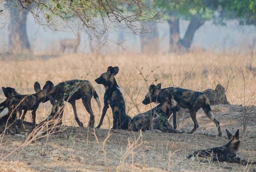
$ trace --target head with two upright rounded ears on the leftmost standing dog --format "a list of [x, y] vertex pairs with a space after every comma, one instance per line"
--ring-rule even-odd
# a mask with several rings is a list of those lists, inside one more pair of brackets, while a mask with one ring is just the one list
[[50, 92], [52, 92], [52, 88], [54, 87], [53, 83], [50, 81], [47, 81], [44, 85], [43, 89], [41, 90], [41, 86], [39, 82], [34, 83], [34, 90], [38, 96], [38, 100], [40, 102], [46, 102], [49, 100], [48, 96]]

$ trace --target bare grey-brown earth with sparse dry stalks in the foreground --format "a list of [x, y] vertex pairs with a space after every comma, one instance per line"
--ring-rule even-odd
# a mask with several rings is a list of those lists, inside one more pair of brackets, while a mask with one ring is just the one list
[[[228, 142], [225, 128], [234, 133], [240, 129], [238, 156], [256, 160], [256, 107], [234, 105], [212, 106], [220, 121], [222, 137], [203, 110], [198, 111], [199, 128], [194, 134], [163, 133], [158, 130], [130, 132], [80, 127], [65, 127], [57, 135], [22, 147], [1, 162], [0, 171], [254, 171], [256, 165], [246, 167], [227, 162], [203, 163], [187, 156], [203, 148], [222, 146]], [[247, 128], [243, 129], [243, 118]], [[190, 115], [178, 116], [178, 127], [191, 130]], [[5, 135], [0, 146], [1, 160], [20, 146], [26, 138]]]

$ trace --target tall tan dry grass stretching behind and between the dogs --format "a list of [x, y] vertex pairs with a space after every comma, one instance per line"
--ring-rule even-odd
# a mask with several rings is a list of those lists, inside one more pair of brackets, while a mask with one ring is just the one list
[[[42, 56], [45, 57], [45, 56]], [[129, 116], [146, 111], [150, 106], [141, 103], [146, 94], [146, 82], [162, 83], [162, 87], [177, 86], [202, 91], [222, 84], [230, 104], [255, 105], [256, 63], [251, 55], [216, 54], [212, 52], [190, 52], [186, 54], [63, 54], [53, 58], [30, 58], [30, 60], [0, 60], [0, 86], [11, 86], [21, 94], [34, 93], [34, 82], [41, 86], [51, 80], [58, 84], [64, 80], [85, 79], [92, 82], [103, 104], [104, 87], [94, 80], [107, 70], [118, 66], [118, 85], [126, 100]], [[250, 66], [250, 68], [248, 68]], [[0, 100], [4, 100], [1, 93]], [[96, 102], [92, 100], [96, 124], [100, 120]], [[50, 103], [40, 104], [37, 122], [50, 114]], [[77, 103], [78, 117], [87, 124], [90, 115], [82, 102]], [[28, 119], [29, 116], [26, 116]], [[74, 120], [72, 106], [64, 109], [64, 124], [78, 126]], [[112, 112], [108, 110], [103, 128], [112, 127]]]

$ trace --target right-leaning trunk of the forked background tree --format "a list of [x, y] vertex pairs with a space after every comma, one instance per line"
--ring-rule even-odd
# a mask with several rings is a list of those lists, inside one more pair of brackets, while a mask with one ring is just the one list
[[180, 41], [180, 44], [181, 44], [184, 48], [186, 48], [186, 49], [189, 49], [189, 48], [190, 48], [196, 30], [198, 30], [198, 28], [200, 28], [200, 27], [204, 24], [204, 22], [205, 22], [205, 21], [199, 20], [199, 19], [196, 18], [196, 17], [192, 17], [192, 18], [191, 18], [190, 23], [189, 23], [189, 25], [188, 25], [188, 28], [187, 28], [187, 30], [186, 30], [185, 36], [184, 36], [184, 38]]

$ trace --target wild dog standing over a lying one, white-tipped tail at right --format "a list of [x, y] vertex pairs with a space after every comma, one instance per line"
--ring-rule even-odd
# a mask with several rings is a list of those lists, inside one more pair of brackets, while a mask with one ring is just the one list
[[[214, 118], [214, 114], [211, 110], [208, 98], [202, 93], [193, 90], [186, 90], [183, 88], [163, 88], [161, 89], [161, 84], [157, 86], [151, 85], [149, 87], [149, 92], [146, 94], [145, 99], [142, 101], [143, 104], [149, 104], [150, 102], [159, 102], [158, 94], [160, 92], [164, 93], [166, 96], [173, 94], [174, 99], [181, 108], [188, 108], [190, 116], [194, 122], [194, 128], [189, 132], [192, 134], [199, 127], [196, 120], [196, 112], [202, 108], [204, 113], [208, 118], [210, 118], [218, 127], [218, 136], [222, 136], [220, 130], [220, 123]], [[173, 126], [176, 129], [176, 112], [173, 113]]]

